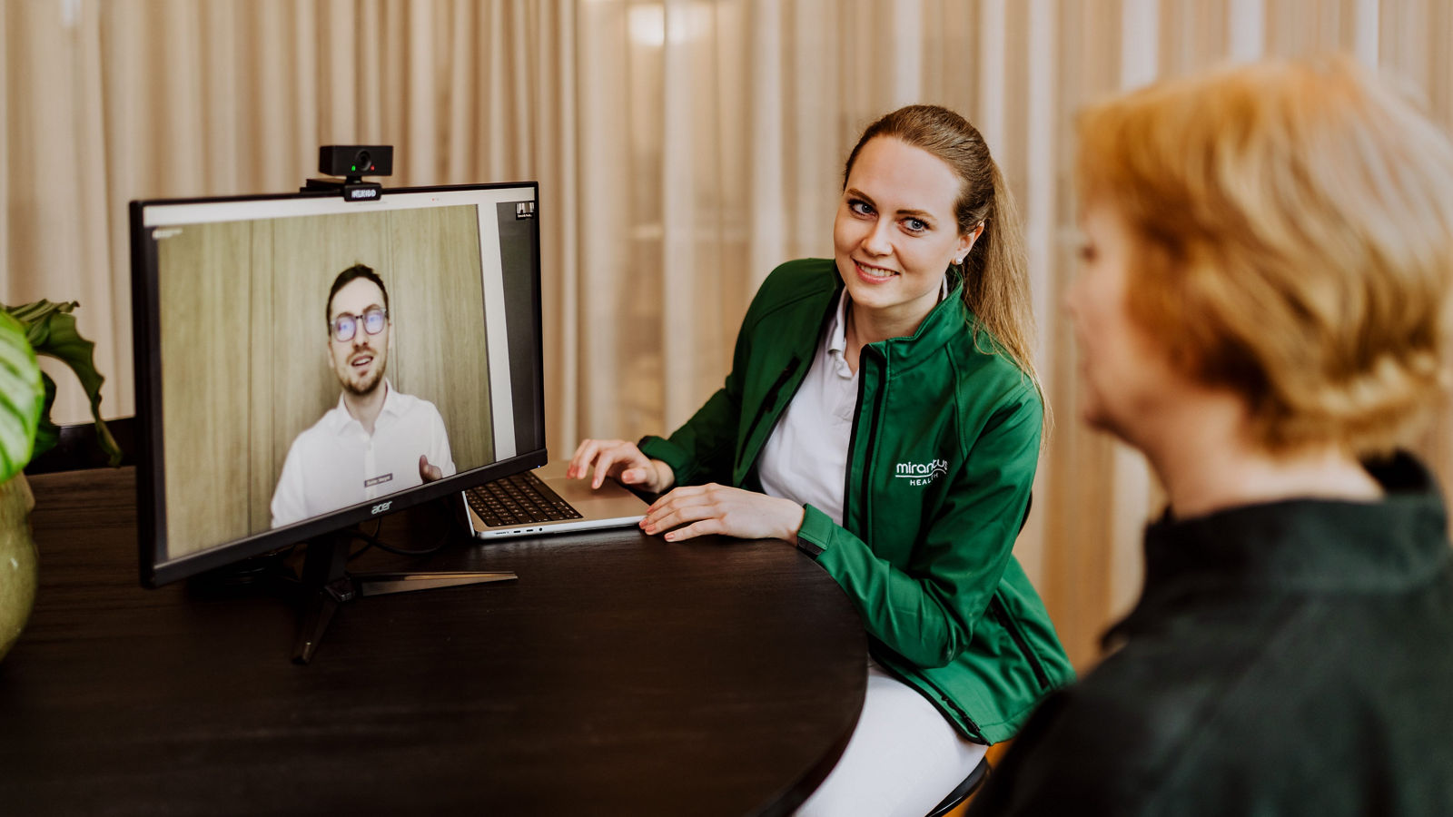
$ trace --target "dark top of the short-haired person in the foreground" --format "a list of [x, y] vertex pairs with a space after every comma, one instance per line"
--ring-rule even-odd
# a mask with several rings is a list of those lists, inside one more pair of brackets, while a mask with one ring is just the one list
[[1161, 520], [1082, 682], [1045, 701], [971, 814], [1453, 814], [1453, 570], [1412, 458], [1376, 503]]

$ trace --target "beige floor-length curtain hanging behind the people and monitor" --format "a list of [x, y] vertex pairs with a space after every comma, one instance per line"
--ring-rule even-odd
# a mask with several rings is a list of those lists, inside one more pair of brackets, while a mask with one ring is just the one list
[[[776, 263], [831, 251], [876, 115], [955, 108], [1027, 215], [1056, 426], [1017, 554], [1081, 667], [1133, 602], [1159, 497], [1077, 420], [1074, 112], [1225, 60], [1347, 51], [1453, 125], [1443, 0], [3, 0], [0, 297], [80, 299], [108, 416], [134, 411], [131, 199], [278, 192], [318, 144], [389, 185], [542, 185], [548, 436], [674, 427]], [[84, 404], [65, 375], [57, 416]], [[1443, 413], [1421, 443], [1453, 478]]]

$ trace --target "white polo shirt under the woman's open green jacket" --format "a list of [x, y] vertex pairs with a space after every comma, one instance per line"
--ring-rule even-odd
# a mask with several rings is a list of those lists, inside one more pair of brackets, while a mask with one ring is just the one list
[[[949, 295], [944, 276], [939, 301]], [[757, 478], [767, 496], [811, 504], [843, 523], [847, 446], [857, 413], [857, 372], [847, 366], [847, 289], [818, 342], [812, 368], [777, 419], [757, 459]]]

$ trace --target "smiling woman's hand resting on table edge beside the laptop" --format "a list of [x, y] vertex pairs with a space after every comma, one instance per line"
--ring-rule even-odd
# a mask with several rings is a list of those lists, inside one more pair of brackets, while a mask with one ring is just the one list
[[[706, 534], [741, 539], [786, 539], [798, 542], [802, 506], [789, 500], [728, 488], [726, 486], [687, 486], [655, 500], [645, 512], [641, 528], [647, 534], [674, 531], [667, 541], [679, 542]], [[681, 528], [677, 528], [681, 525]]]

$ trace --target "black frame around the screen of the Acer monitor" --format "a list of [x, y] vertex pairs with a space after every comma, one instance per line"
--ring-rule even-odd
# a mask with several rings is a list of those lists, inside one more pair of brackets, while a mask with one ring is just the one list
[[[386, 188], [384, 198], [402, 193], [432, 193], [455, 190], [491, 190], [509, 188], [529, 188], [535, 196], [535, 259], [530, 270], [533, 310], [533, 342], [542, 353], [536, 361], [543, 361], [543, 317], [539, 308], [542, 301], [541, 289], [541, 212], [539, 212], [539, 182], [491, 182], [478, 185], [434, 185], [418, 188]], [[500, 459], [490, 465], [462, 471], [445, 477], [436, 483], [414, 486], [402, 491], [386, 494], [359, 504], [343, 507], [323, 516], [288, 525], [285, 528], [251, 534], [238, 539], [209, 547], [195, 554], [177, 558], [167, 558], [166, 531], [166, 474], [163, 472], [161, 429], [161, 337], [157, 318], [160, 301], [160, 278], [157, 269], [155, 241], [151, 240], [145, 227], [145, 209], [164, 205], [195, 205], [195, 204], [230, 204], [253, 201], [296, 201], [296, 199], [328, 199], [339, 198], [336, 192], [296, 192], [296, 193], [257, 193], [240, 196], [205, 196], [186, 199], [144, 199], [132, 201], [129, 205], [129, 237], [131, 237], [131, 282], [132, 282], [132, 356], [135, 363], [135, 395], [137, 395], [137, 545], [141, 584], [158, 587], [196, 576], [209, 570], [225, 567], [244, 558], [256, 557], [278, 548], [304, 542], [343, 528], [357, 525], [368, 519], [395, 513], [408, 507], [437, 500], [452, 493], [471, 488], [474, 486], [517, 474], [530, 468], [539, 468], [548, 459], [545, 445], [545, 372], [543, 363], [535, 378], [535, 423], [539, 429], [539, 448], [517, 452], [514, 456]], [[356, 202], [366, 208], [372, 201]], [[462, 502], [462, 500], [461, 500]], [[382, 506], [382, 507], [381, 507]]]

